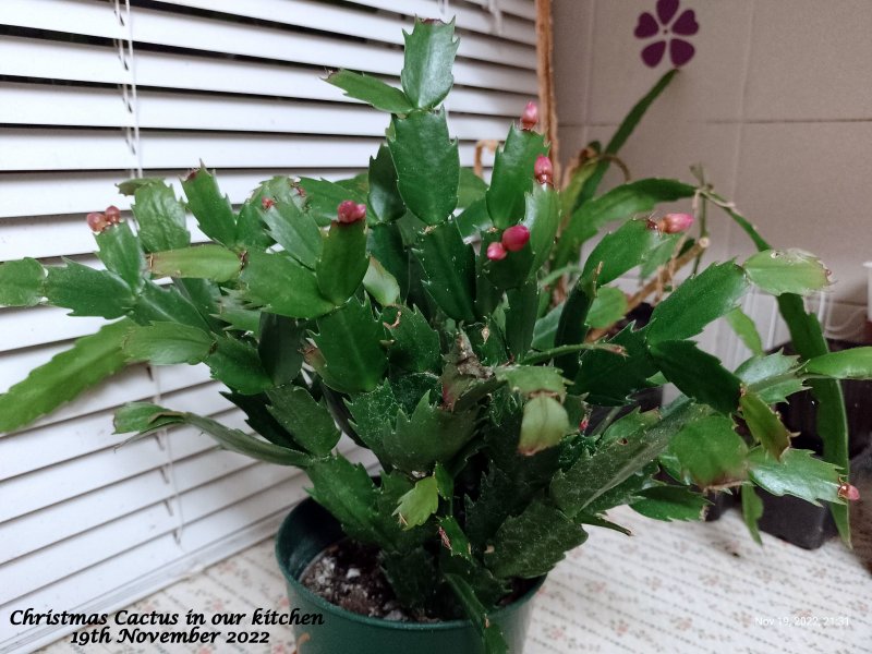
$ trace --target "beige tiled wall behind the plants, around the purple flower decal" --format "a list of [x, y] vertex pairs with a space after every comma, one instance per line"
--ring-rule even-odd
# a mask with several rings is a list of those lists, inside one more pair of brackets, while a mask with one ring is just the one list
[[[655, 0], [554, 0], [561, 156], [607, 140], [668, 70], [633, 29]], [[865, 303], [872, 259], [872, 0], [681, 0], [695, 56], [625, 147], [634, 178], [701, 162], [776, 244], [819, 254], [833, 298]], [[608, 182], [619, 178], [614, 173]], [[711, 256], [750, 252], [722, 218]]]

